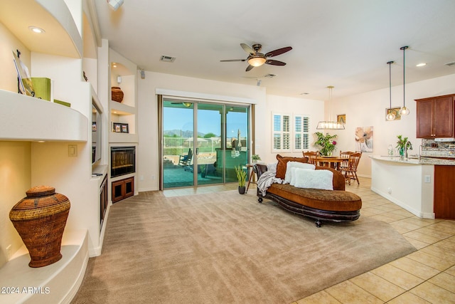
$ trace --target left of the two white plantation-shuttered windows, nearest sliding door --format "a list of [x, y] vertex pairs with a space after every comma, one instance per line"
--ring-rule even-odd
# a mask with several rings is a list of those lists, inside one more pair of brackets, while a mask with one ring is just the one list
[[291, 115], [272, 113], [272, 152], [291, 151]]

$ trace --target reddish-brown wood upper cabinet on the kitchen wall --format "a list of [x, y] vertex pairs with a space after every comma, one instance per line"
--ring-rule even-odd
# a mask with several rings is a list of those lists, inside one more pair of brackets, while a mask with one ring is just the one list
[[415, 101], [417, 138], [455, 137], [455, 94]]

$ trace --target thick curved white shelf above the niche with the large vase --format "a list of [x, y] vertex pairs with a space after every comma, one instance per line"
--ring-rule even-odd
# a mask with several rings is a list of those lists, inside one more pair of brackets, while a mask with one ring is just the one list
[[0, 121], [0, 140], [87, 142], [82, 113], [27, 95], [0, 90]]

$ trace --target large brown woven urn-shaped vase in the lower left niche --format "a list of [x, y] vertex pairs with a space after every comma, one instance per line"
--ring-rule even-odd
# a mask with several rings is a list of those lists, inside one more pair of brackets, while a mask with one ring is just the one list
[[33, 187], [9, 212], [9, 219], [30, 253], [28, 266], [48, 266], [62, 258], [60, 247], [70, 201], [48, 186]]

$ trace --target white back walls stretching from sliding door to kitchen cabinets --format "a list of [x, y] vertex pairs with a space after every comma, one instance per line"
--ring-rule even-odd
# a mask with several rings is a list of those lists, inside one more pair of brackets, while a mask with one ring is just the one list
[[[352, 95], [346, 98], [336, 98], [336, 90], [333, 90], [331, 113], [328, 112], [327, 101], [325, 102], [326, 111], [324, 113], [323, 101], [267, 95], [265, 88], [257, 87], [256, 85], [238, 85], [235, 83], [146, 72], [145, 79], [138, 77], [139, 192], [159, 189], [156, 88], [255, 100], [255, 152], [261, 156], [263, 162], [267, 163], [274, 162], [277, 155], [271, 152], [272, 112], [309, 115], [312, 133], [317, 131], [316, 125], [320, 120], [328, 119], [329, 115], [336, 119], [336, 115], [346, 114], [346, 130], [330, 131], [328, 133], [337, 135], [336, 153], [338, 154], [339, 151], [355, 150], [355, 127], [373, 126], [373, 152], [364, 152], [358, 167], [360, 176], [370, 177], [371, 161], [368, 155], [387, 154], [388, 145], [395, 147], [397, 135], [409, 137], [414, 146], [414, 150], [410, 151], [410, 154], [419, 152], [421, 140], [415, 137], [416, 105], [414, 100], [455, 93], [453, 83], [455, 83], [455, 74], [406, 84], [406, 106], [410, 108], [410, 115], [402, 117], [401, 120], [387, 122], [385, 120], [385, 111], [389, 107], [389, 88]], [[402, 85], [392, 87], [392, 107], [402, 106], [402, 96]], [[314, 147], [314, 141], [315, 139], [313, 138], [309, 150], [318, 150], [318, 147]], [[301, 152], [282, 154], [300, 156]]]

